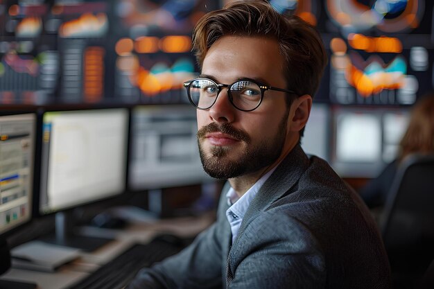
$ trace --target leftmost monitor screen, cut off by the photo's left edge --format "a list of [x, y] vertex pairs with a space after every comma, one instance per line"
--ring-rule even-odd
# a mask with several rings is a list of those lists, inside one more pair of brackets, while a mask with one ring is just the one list
[[0, 116], [0, 235], [31, 219], [35, 114]]

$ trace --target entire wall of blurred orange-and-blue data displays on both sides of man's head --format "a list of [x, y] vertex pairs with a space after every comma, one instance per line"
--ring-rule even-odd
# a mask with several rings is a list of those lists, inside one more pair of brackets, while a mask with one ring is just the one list
[[[185, 103], [191, 33], [230, 0], [0, 1], [0, 103]], [[412, 105], [433, 89], [433, 1], [270, 0], [318, 28], [316, 99]]]

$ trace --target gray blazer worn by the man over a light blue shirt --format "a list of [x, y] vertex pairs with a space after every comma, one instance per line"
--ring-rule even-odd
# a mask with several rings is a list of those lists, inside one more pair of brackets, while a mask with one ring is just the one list
[[232, 246], [228, 189], [214, 225], [128, 288], [391, 288], [370, 211], [322, 159], [296, 146], [252, 200]]

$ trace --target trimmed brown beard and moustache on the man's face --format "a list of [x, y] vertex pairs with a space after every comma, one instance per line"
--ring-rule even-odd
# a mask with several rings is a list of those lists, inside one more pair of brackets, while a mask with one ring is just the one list
[[[200, 128], [198, 146], [203, 169], [208, 175], [216, 179], [231, 179], [270, 166], [279, 158], [284, 148], [288, 115], [289, 108], [286, 110], [284, 118], [281, 119], [275, 136], [270, 139], [263, 139], [256, 144], [252, 144], [247, 132], [238, 130], [229, 123], [209, 123]], [[201, 142], [209, 132], [228, 134], [230, 137], [245, 143], [245, 149], [236, 159], [229, 157], [231, 148], [225, 146], [211, 146], [207, 154]]]

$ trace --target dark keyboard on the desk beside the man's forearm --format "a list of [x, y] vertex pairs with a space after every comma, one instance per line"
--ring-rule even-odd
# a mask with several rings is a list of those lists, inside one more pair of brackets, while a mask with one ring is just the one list
[[124, 288], [141, 268], [180, 252], [182, 246], [160, 240], [148, 244], [133, 244], [123, 253], [102, 265], [85, 279], [68, 289], [121, 289]]

